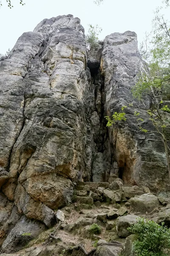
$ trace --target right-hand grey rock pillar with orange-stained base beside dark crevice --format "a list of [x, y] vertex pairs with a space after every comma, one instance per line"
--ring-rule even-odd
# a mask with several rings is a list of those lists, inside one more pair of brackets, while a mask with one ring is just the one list
[[[135, 32], [113, 33], [105, 38], [100, 69], [105, 77], [105, 115], [111, 116], [115, 111], [120, 112], [122, 106], [133, 102], [133, 110], [125, 110], [126, 122], [108, 130], [124, 183], [135, 183], [152, 190], [168, 187], [166, 157], [161, 137], [156, 133], [141, 134], [133, 116], [138, 107], [143, 107], [133, 99], [131, 88], [136, 84], [138, 74], [147, 72], [146, 63], [142, 61], [137, 48]], [[149, 108], [151, 99], [146, 97], [144, 104]], [[145, 128], [154, 131], [146, 111], [141, 112]]]

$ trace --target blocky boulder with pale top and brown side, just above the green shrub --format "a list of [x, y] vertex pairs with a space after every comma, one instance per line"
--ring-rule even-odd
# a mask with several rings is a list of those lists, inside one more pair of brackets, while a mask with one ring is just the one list
[[137, 218], [139, 217], [136, 215], [126, 215], [126, 216], [117, 218], [116, 230], [117, 230], [118, 236], [121, 236], [121, 237], [130, 236], [130, 232], [127, 230], [127, 228], [135, 224], [137, 222]]

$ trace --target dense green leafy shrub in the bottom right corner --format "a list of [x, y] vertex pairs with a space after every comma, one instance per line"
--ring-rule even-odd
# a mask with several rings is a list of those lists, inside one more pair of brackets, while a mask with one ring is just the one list
[[170, 255], [170, 229], [144, 218], [128, 230], [138, 235], [134, 242], [136, 256], [169, 256]]

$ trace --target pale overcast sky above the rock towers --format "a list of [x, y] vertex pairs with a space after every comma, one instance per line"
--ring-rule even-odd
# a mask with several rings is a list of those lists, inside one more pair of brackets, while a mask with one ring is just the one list
[[[88, 24], [102, 27], [100, 39], [113, 32], [135, 31], [138, 41], [142, 41], [145, 31], [150, 31], [153, 10], [161, 5], [161, 0], [105, 0], [96, 6], [93, 0], [11, 0], [14, 8], [9, 9], [2, 0], [0, 9], [0, 53], [12, 49], [23, 32], [33, 31], [45, 18], [72, 14], [79, 17], [88, 30]], [[170, 10], [169, 10], [170, 11]]]

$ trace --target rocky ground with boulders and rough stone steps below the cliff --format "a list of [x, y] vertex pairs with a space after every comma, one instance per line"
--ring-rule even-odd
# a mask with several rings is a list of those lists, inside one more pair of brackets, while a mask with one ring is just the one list
[[[78, 182], [74, 190], [75, 202], [56, 211], [57, 224], [54, 227], [28, 241], [25, 249], [1, 255], [117, 256], [121, 252], [123, 256], [132, 256], [134, 236], [127, 227], [135, 224], [137, 218], [144, 217], [158, 223], [164, 221], [170, 227], [169, 199], [144, 189], [147, 193], [138, 186], [124, 185], [119, 178], [111, 184]], [[92, 224], [101, 228], [99, 234], [91, 233]], [[24, 232], [15, 243], [30, 236], [31, 233]], [[14, 246], [13, 242], [11, 246]], [[3, 248], [10, 250], [9, 247]]]

